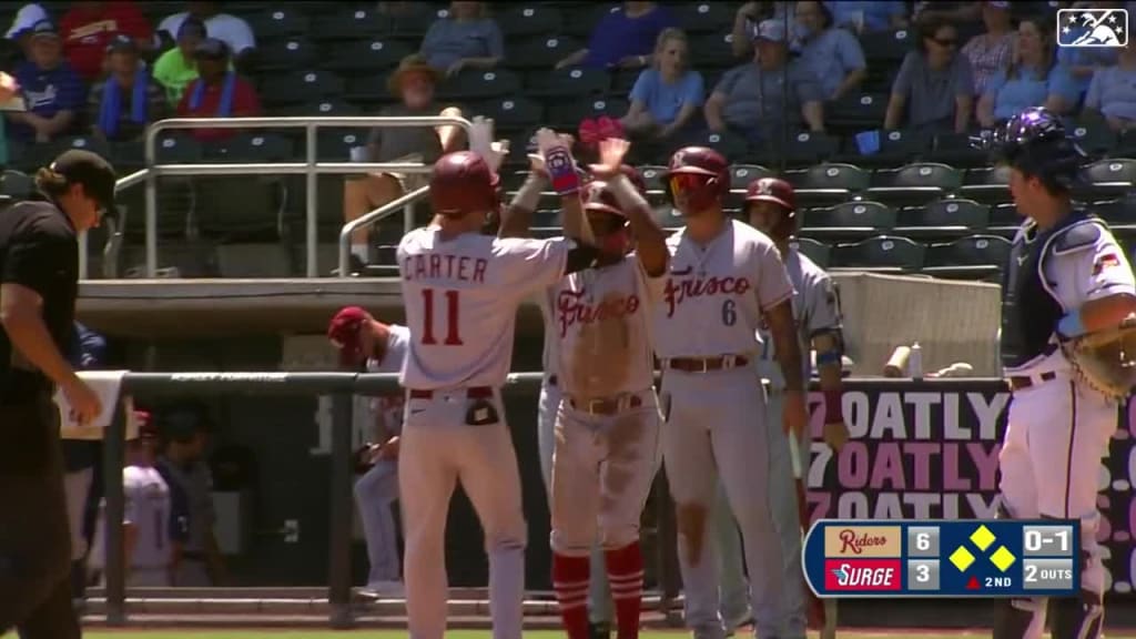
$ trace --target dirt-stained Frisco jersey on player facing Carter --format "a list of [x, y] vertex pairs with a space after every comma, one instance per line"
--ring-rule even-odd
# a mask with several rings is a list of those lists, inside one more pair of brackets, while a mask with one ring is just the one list
[[638, 257], [573, 273], [548, 291], [545, 335], [565, 395], [599, 398], [637, 392], [654, 383], [650, 307], [665, 277], [649, 277]]

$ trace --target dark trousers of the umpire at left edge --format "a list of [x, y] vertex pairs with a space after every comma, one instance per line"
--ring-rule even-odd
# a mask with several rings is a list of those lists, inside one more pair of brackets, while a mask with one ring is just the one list
[[0, 406], [0, 634], [78, 638], [59, 410], [42, 395]]

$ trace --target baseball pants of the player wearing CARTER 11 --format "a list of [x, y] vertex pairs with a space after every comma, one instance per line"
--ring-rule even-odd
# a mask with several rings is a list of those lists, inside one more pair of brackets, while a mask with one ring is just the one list
[[408, 397], [399, 451], [399, 495], [406, 530], [404, 581], [411, 639], [445, 634], [449, 583], [445, 522], [458, 482], [485, 533], [494, 639], [520, 639], [527, 524], [520, 472], [500, 393], [498, 421], [467, 424], [467, 391]]

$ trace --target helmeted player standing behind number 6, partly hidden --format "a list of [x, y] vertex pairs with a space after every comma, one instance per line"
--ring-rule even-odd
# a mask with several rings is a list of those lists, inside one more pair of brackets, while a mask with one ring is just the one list
[[[790, 246], [797, 226], [796, 202], [793, 186], [784, 180], [762, 177], [749, 184], [745, 191], [745, 213], [757, 230], [769, 235], [777, 246], [788, 279], [793, 282], [793, 317], [799, 327], [801, 352], [810, 346], [817, 351], [817, 370], [820, 388], [825, 396], [825, 441], [835, 453], [840, 453], [847, 441], [847, 425], [842, 414], [843, 380], [841, 358], [843, 337], [841, 330], [840, 299], [836, 285], [822, 268], [808, 256]], [[758, 360], [758, 373], [768, 392], [767, 420], [776, 422], [780, 415], [785, 377], [776, 365], [772, 340], [762, 335], [763, 348]], [[804, 366], [799, 372], [802, 384], [811, 377], [811, 366], [803, 358]], [[808, 616], [812, 625], [822, 629], [822, 638], [836, 636], [835, 609], [825, 614], [825, 605], [804, 584], [801, 566], [802, 526], [809, 525], [809, 509], [805, 501], [804, 476], [810, 462], [809, 432], [801, 431], [796, 438], [786, 438], [780, 429], [767, 429], [770, 450], [778, 451], [770, 458], [769, 489], [774, 521], [780, 533], [785, 550], [785, 605], [784, 617], [787, 628], [782, 637], [804, 637], [807, 621], [805, 600], [809, 601]], [[829, 600], [835, 604], [834, 600]], [[826, 601], [825, 604], [828, 604]]]

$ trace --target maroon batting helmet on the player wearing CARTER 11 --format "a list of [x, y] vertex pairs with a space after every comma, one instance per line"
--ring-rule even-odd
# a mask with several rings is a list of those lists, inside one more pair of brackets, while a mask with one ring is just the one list
[[429, 175], [431, 206], [446, 217], [495, 211], [499, 183], [500, 177], [482, 156], [473, 151], [446, 153], [434, 163]]

